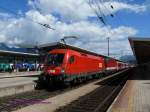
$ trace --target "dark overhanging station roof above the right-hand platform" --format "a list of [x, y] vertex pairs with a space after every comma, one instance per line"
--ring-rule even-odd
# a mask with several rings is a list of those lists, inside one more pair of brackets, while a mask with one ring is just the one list
[[132, 51], [139, 64], [150, 62], [150, 38], [129, 38]]

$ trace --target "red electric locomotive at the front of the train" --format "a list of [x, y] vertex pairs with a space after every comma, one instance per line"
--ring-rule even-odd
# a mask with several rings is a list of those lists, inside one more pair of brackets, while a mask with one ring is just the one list
[[54, 49], [45, 59], [45, 82], [76, 82], [96, 77], [105, 71], [104, 58], [71, 49]]

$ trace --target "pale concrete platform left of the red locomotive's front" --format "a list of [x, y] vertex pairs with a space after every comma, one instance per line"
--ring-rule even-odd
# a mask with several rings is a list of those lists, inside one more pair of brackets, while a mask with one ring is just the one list
[[37, 72], [0, 74], [0, 97], [34, 90], [34, 81], [38, 79], [38, 74]]

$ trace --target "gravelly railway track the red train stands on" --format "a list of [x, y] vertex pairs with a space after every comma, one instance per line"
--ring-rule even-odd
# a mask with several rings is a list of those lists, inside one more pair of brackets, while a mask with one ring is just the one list
[[62, 86], [51, 89], [44, 88], [42, 90], [34, 90], [12, 96], [0, 97], [0, 112], [11, 112], [34, 103], [41, 102], [42, 100], [56, 96], [58, 94], [77, 89], [96, 80], [98, 79], [89, 80], [86, 83], [77, 84], [73, 87]]

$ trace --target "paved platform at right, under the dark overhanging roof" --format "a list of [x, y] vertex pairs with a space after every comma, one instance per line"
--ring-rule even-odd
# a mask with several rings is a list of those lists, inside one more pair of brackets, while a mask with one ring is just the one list
[[140, 66], [132, 71], [124, 88], [107, 112], [150, 111], [150, 67]]

